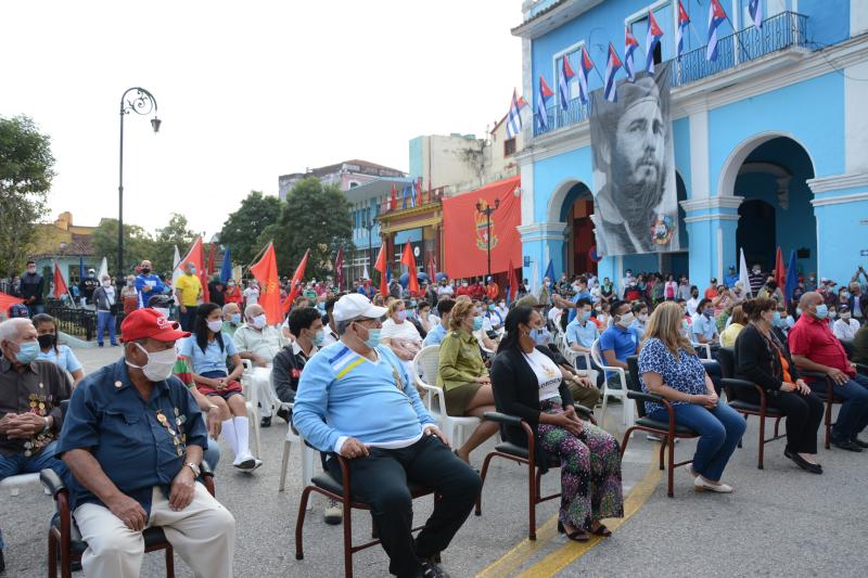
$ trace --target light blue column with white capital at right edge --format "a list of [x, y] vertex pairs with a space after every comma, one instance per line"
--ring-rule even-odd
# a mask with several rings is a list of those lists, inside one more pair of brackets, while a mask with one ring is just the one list
[[817, 218], [817, 275], [850, 281], [868, 264], [868, 172], [807, 181]]

